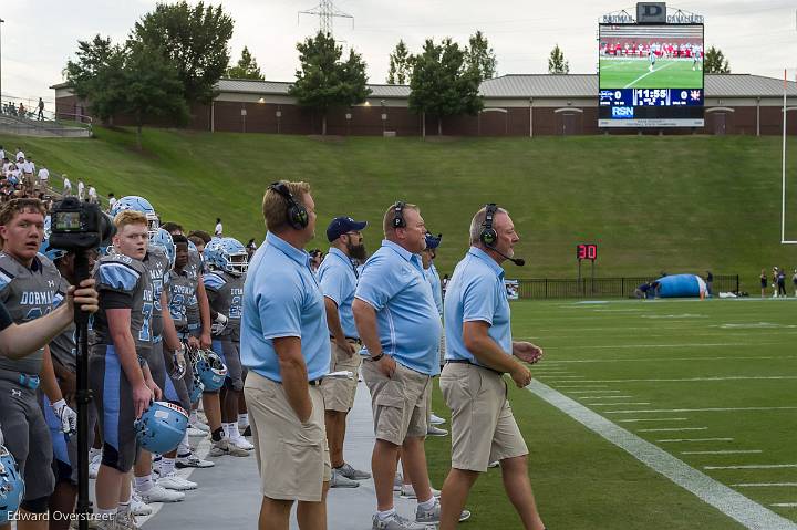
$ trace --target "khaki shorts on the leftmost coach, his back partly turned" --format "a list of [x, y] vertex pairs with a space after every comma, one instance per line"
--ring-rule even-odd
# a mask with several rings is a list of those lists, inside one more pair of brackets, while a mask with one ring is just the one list
[[255, 455], [260, 471], [260, 492], [277, 500], [320, 502], [330, 467], [323, 396], [310, 386], [313, 411], [308, 423], [299, 422], [280, 383], [249, 372], [244, 386]]

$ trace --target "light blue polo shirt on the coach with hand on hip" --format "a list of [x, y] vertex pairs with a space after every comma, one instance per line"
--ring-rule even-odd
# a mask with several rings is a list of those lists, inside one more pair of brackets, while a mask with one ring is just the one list
[[383, 240], [365, 262], [354, 295], [376, 310], [386, 355], [416, 372], [439, 373], [439, 314], [420, 256]]

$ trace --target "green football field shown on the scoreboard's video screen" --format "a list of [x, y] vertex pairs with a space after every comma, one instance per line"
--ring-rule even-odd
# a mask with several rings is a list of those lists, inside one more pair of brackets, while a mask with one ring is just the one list
[[[700, 63], [701, 67], [703, 63]], [[701, 89], [703, 71], [692, 70], [692, 61], [659, 59], [649, 70], [644, 59], [601, 59], [601, 89]]]

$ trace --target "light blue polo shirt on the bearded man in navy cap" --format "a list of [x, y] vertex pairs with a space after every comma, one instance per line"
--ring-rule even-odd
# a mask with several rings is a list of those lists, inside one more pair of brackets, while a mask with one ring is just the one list
[[[354, 325], [354, 313], [351, 310], [356, 289], [356, 272], [351, 259], [340, 249], [331, 247], [315, 274], [323, 295], [338, 304], [343, 334], [359, 339], [360, 335]], [[331, 334], [332, 330], [329, 332]]]

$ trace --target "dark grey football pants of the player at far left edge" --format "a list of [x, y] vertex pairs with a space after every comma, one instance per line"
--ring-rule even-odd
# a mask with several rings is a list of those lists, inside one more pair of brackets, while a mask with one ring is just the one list
[[0, 426], [25, 482], [24, 500], [49, 497], [55, 488], [52, 440], [37, 391], [0, 378]]

